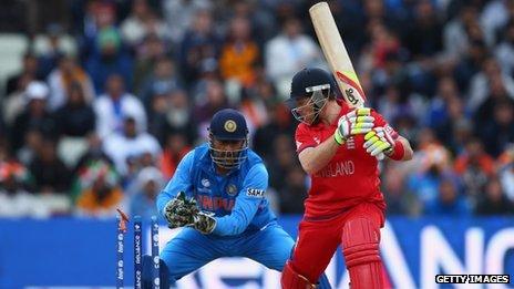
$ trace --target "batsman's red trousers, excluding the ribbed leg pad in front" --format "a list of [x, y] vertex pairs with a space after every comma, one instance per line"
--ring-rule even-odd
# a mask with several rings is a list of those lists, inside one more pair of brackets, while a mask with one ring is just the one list
[[[369, 220], [370, 227], [374, 228], [372, 231], [364, 234], [371, 234], [377, 241], [380, 241], [380, 228], [383, 227], [384, 214], [380, 207], [372, 203], [359, 204], [328, 219], [304, 218], [299, 225], [298, 239], [290, 261], [291, 267], [311, 283], [316, 283], [316, 280], [318, 280], [330, 262], [338, 246], [342, 244], [345, 251], [348, 238], [360, 238], [359, 236], [362, 233], [359, 230], [366, 230], [362, 228], [349, 228], [351, 226], [345, 225], [351, 220], [362, 218]], [[346, 231], [343, 231], [343, 228]], [[345, 241], [343, 234], [347, 236]], [[346, 259], [348, 259], [347, 257]], [[381, 266], [381, 262], [379, 266]], [[350, 281], [354, 282], [353, 280]]]

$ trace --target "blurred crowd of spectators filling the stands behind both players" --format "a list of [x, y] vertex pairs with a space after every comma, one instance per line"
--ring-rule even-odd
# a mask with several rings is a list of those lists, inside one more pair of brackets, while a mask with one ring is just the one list
[[[284, 100], [295, 72], [326, 68], [315, 2], [68, 1], [70, 20], [39, 45], [28, 37], [3, 84], [0, 216], [154, 215], [222, 107], [246, 115], [276, 210], [302, 213], [309, 179]], [[380, 165], [388, 214], [513, 214], [514, 1], [330, 7], [369, 105], [415, 152]]]

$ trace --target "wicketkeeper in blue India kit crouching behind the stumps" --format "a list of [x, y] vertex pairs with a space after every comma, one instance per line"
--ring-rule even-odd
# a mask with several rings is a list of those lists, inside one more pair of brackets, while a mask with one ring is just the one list
[[[248, 148], [245, 117], [222, 110], [208, 130], [209, 142], [184, 156], [157, 197], [169, 227], [184, 227], [161, 252], [163, 287], [220, 257], [247, 257], [281, 271], [292, 251], [294, 239], [266, 199], [268, 172]], [[325, 275], [320, 287], [330, 288]]]

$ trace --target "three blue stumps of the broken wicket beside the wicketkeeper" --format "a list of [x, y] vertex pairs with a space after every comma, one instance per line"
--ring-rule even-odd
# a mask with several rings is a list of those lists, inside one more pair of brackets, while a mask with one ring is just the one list
[[[124, 247], [125, 247], [125, 234], [126, 223], [128, 217], [120, 209], [116, 209], [120, 214], [117, 218], [117, 242], [116, 242], [116, 289], [124, 288]], [[134, 288], [143, 288], [143, 223], [141, 216], [134, 216]], [[160, 257], [158, 257], [158, 223], [157, 217], [152, 216], [151, 219], [151, 238], [152, 238], [152, 288], [160, 289], [161, 280], [158, 276], [160, 270]]]

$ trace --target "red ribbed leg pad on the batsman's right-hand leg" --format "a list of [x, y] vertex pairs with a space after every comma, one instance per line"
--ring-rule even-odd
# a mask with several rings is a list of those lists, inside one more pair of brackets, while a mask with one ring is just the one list
[[380, 229], [371, 220], [356, 218], [345, 225], [342, 252], [352, 289], [383, 287], [379, 242]]

